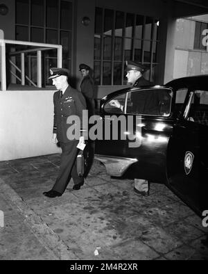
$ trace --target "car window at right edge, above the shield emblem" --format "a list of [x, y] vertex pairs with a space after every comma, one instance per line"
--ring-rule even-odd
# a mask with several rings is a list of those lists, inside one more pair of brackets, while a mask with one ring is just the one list
[[208, 126], [208, 91], [194, 90], [187, 120]]

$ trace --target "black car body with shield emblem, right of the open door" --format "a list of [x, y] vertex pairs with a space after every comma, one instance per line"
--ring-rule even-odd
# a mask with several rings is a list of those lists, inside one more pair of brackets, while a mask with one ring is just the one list
[[208, 91], [177, 90], [180, 107], [168, 144], [168, 186], [202, 216], [208, 210]]

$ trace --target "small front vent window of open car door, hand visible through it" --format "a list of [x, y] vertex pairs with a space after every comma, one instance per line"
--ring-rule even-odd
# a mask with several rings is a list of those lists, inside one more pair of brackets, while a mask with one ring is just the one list
[[104, 106], [104, 110], [106, 113], [115, 113], [115, 114], [121, 114], [124, 112], [124, 106], [125, 106], [125, 96], [126, 94], [124, 93], [123, 95], [118, 95], [111, 99], [107, 104]]

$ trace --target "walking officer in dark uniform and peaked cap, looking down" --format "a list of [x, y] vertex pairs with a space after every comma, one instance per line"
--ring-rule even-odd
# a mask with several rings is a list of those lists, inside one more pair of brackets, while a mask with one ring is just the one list
[[[53, 95], [54, 119], [53, 119], [53, 143], [60, 142], [62, 148], [62, 157], [58, 178], [50, 191], [43, 194], [49, 198], [61, 196], [71, 177], [73, 178], [74, 190], [83, 186], [83, 177], [78, 176], [76, 169], [76, 157], [78, 155], [77, 145], [79, 140], [69, 140], [67, 130], [71, 124], [67, 124], [67, 118], [71, 115], [77, 115], [80, 118], [80, 124], [83, 121], [83, 110], [86, 110], [86, 102], [81, 92], [69, 86], [69, 71], [64, 68], [53, 67], [50, 70], [53, 85], [58, 89]], [[80, 136], [82, 135], [82, 128]], [[80, 142], [84, 142], [80, 137]]]

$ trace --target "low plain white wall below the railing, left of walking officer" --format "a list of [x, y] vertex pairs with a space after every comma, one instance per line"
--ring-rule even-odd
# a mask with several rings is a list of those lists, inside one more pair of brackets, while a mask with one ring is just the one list
[[54, 90], [0, 92], [0, 161], [60, 152], [51, 143]]

